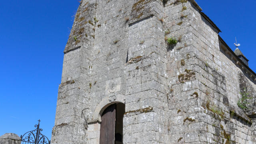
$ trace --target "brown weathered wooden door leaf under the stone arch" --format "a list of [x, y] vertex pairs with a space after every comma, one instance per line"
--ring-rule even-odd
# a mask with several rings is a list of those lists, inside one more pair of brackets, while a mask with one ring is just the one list
[[104, 110], [100, 124], [100, 144], [114, 144], [116, 127], [116, 104]]

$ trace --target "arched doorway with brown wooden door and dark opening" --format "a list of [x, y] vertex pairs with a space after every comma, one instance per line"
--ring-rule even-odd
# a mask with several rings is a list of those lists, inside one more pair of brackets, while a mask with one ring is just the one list
[[101, 116], [100, 144], [122, 144], [125, 105], [116, 103], [108, 106]]

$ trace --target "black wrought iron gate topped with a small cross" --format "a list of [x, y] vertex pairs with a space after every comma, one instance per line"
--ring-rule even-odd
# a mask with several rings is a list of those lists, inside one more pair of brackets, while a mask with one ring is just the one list
[[51, 144], [51, 141], [41, 134], [42, 129], [39, 128], [40, 120], [38, 120], [38, 124], [35, 125], [36, 129], [26, 132], [21, 135], [21, 144]]

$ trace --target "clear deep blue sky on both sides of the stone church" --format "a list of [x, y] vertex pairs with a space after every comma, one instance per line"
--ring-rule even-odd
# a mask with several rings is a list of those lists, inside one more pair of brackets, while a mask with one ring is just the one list
[[[256, 0], [196, 1], [233, 50], [237, 37], [256, 72]], [[42, 133], [51, 137], [63, 50], [78, 5], [78, 0], [1, 1], [0, 135], [20, 136], [41, 119]]]

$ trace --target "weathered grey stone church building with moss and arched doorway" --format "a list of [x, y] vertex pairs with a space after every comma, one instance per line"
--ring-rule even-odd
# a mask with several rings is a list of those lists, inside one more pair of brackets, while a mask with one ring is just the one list
[[256, 144], [256, 74], [219, 32], [194, 0], [82, 0], [52, 144]]

